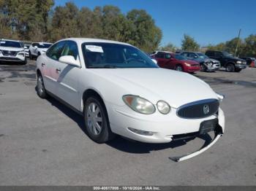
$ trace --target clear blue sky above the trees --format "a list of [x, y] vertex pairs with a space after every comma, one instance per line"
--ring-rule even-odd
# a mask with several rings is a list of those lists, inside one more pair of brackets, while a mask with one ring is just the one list
[[[55, 0], [55, 6], [70, 0]], [[114, 5], [126, 14], [145, 9], [162, 30], [161, 45], [181, 46], [184, 34], [201, 45], [256, 34], [256, 0], [72, 0], [79, 8]]]

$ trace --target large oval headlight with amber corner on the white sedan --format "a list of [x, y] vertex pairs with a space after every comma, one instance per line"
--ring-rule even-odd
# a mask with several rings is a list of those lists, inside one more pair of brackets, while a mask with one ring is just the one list
[[123, 101], [135, 112], [140, 114], [153, 114], [156, 111], [154, 104], [138, 95], [124, 95]]

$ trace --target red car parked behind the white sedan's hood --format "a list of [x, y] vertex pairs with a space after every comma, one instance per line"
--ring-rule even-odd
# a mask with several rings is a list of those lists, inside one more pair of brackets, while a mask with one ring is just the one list
[[193, 73], [200, 71], [200, 65], [196, 61], [189, 61], [183, 55], [174, 54], [173, 52], [157, 52], [151, 55], [157, 60], [159, 67], [164, 69], [173, 69]]

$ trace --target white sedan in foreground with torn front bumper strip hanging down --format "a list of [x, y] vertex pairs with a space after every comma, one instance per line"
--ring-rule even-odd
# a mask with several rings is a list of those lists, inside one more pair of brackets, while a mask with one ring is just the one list
[[37, 93], [52, 95], [83, 115], [88, 136], [104, 143], [116, 134], [148, 143], [224, 133], [223, 96], [191, 74], [160, 69], [130, 44], [62, 39], [37, 59]]

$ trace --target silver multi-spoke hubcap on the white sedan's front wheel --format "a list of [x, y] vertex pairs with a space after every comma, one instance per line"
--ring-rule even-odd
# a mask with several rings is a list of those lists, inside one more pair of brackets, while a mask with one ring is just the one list
[[86, 122], [91, 133], [94, 133], [96, 136], [99, 135], [102, 131], [102, 112], [94, 102], [89, 104], [87, 108]]

